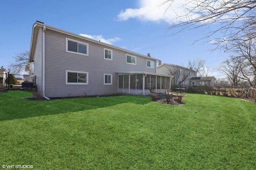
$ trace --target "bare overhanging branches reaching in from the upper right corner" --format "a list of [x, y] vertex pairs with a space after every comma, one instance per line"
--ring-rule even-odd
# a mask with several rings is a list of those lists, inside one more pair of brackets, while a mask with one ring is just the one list
[[[187, 31], [205, 27], [203, 42], [217, 45], [222, 49], [227, 43], [244, 39], [245, 34], [256, 37], [256, 0], [183, 0], [182, 6], [176, 8], [180, 0], [165, 0], [159, 6], [167, 5], [176, 18], [170, 21], [168, 30], [180, 28]], [[181, 2], [180, 2], [181, 3]], [[212, 25], [216, 29], [213, 29]]]

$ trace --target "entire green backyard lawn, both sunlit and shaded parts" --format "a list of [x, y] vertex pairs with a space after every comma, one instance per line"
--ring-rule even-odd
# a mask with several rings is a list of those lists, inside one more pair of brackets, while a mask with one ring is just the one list
[[255, 169], [256, 104], [188, 94], [31, 102], [0, 94], [0, 164], [33, 169]]

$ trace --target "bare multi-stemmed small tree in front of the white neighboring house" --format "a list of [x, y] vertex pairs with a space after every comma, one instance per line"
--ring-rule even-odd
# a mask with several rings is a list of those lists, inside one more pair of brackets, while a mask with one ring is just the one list
[[186, 69], [179, 68], [178, 66], [169, 66], [167, 68], [168, 71], [166, 74], [173, 76], [171, 82], [175, 86], [181, 85], [185, 80], [188, 79], [191, 73]]

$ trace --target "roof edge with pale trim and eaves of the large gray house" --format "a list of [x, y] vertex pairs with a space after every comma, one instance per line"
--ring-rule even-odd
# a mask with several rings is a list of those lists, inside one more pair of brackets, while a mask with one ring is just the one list
[[75, 33], [71, 33], [71, 32], [68, 32], [68, 31], [64, 31], [62, 29], [58, 29], [58, 28], [55, 28], [55, 27], [52, 27], [52, 26], [49, 26], [49, 25], [45, 25], [43, 22], [40, 22], [40, 21], [36, 21], [33, 25], [33, 29], [32, 29], [32, 37], [31, 37], [31, 44], [30, 44], [30, 55], [29, 55], [29, 62], [31, 62], [33, 59], [34, 59], [34, 49], [35, 49], [35, 46], [36, 46], [36, 38], [37, 38], [37, 35], [38, 35], [38, 28], [43, 28], [43, 32], [46, 30], [46, 29], [51, 29], [53, 31], [57, 31], [57, 32], [60, 32], [60, 33], [64, 33], [66, 35], [71, 35], [73, 37], [78, 37], [80, 39], [84, 39], [86, 41], [91, 41], [91, 42], [94, 42], [94, 43], [98, 43], [98, 44], [101, 44], [101, 45], [104, 45], [104, 46], [108, 46], [108, 47], [112, 47], [114, 49], [119, 49], [119, 50], [122, 50], [122, 51], [126, 51], [127, 53], [132, 53], [134, 55], [138, 55], [138, 56], [141, 56], [141, 57], [145, 57], [147, 59], [151, 59], [151, 60], [156, 60], [156, 61], [159, 61], [159, 59], [155, 59], [153, 57], [149, 57], [149, 56], [146, 56], [146, 55], [142, 55], [142, 54], [139, 54], [139, 53], [135, 53], [133, 51], [129, 51], [129, 50], [126, 50], [126, 49], [122, 49], [120, 47], [116, 47], [114, 45], [110, 45], [110, 44], [107, 44], [107, 43], [103, 43], [101, 41], [97, 41], [97, 40], [94, 40], [94, 39], [90, 39], [88, 37], [84, 37], [82, 35], [78, 35], [78, 34], [75, 34]]

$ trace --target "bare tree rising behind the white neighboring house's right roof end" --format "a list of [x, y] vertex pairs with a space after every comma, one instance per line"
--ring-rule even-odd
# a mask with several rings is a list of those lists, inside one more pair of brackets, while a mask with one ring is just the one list
[[201, 77], [206, 77], [208, 76], [210, 67], [207, 66], [205, 67], [204, 64], [206, 63], [205, 60], [202, 59], [197, 59], [191, 61], [190, 59], [188, 60], [188, 68], [195, 70], [198, 73], [198, 76]]

